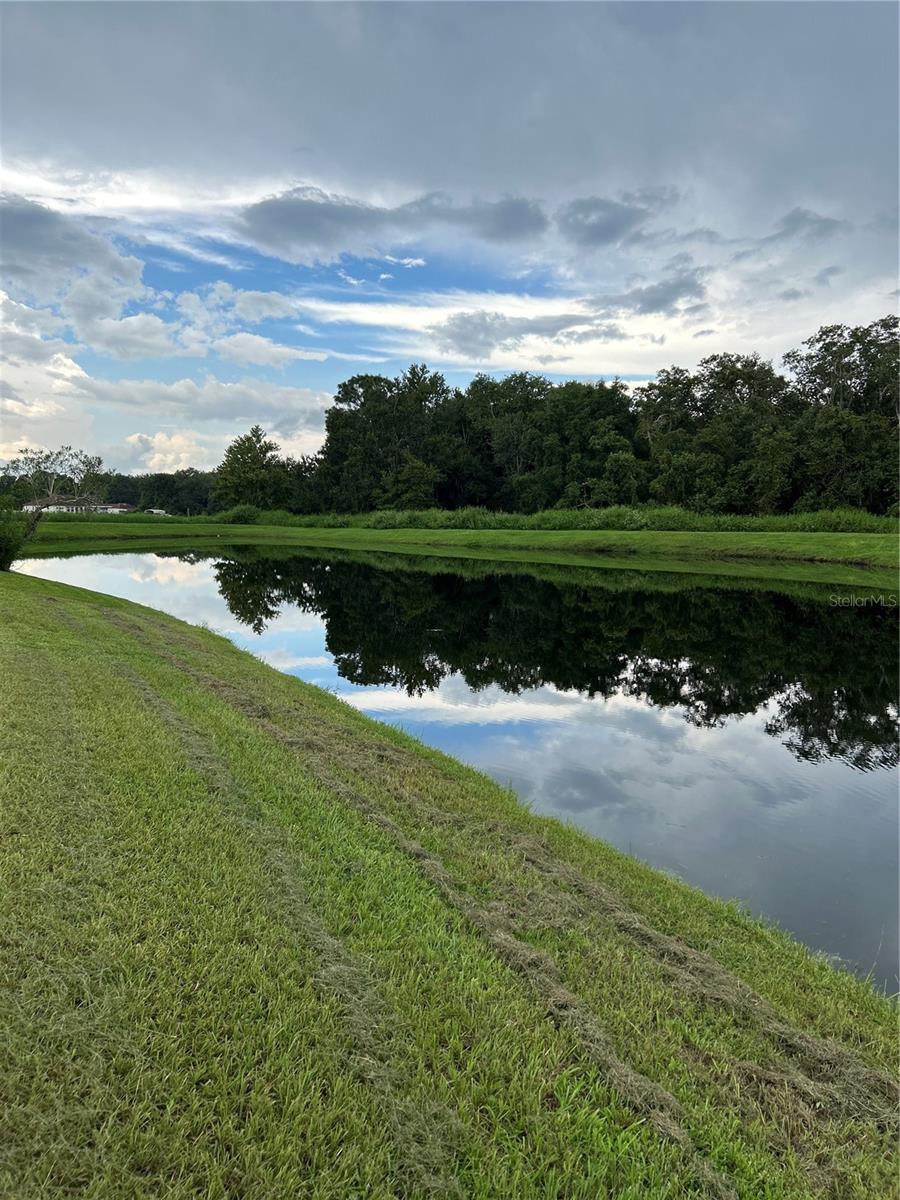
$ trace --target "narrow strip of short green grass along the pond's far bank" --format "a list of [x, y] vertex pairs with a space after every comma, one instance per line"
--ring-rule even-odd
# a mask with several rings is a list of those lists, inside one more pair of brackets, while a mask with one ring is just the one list
[[[650, 530], [542, 529], [358, 529], [283, 526], [217, 526], [208, 521], [122, 522], [44, 521], [26, 554], [178, 546], [202, 550], [230, 545], [320, 546], [379, 550], [407, 554], [494, 558], [506, 562], [556, 562], [578, 565], [640, 565], [697, 571], [715, 563], [716, 571], [746, 575], [778, 571], [782, 577], [877, 582], [895, 589], [898, 539], [894, 534], [852, 533], [673, 533]], [[708, 568], [707, 568], [708, 569]], [[877, 580], [872, 576], [877, 572]]]

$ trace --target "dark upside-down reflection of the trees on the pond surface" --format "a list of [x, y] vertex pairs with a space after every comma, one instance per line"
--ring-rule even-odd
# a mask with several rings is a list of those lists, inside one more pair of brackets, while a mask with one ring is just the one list
[[697, 726], [762, 709], [798, 758], [898, 763], [895, 608], [671, 575], [233, 553], [215, 564], [232, 613], [257, 634], [284, 605], [319, 614], [354, 684], [410, 695], [451, 673], [475, 691], [548, 684], [677, 706]]

